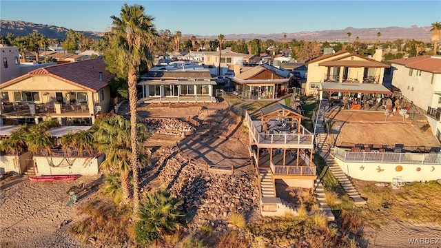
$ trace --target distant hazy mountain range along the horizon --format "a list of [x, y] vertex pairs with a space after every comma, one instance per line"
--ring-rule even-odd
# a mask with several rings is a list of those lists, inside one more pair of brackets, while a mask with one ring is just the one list
[[[14, 37], [25, 36], [32, 32], [39, 32], [50, 39], [65, 39], [68, 28], [55, 25], [46, 25], [32, 23], [28, 21], [7, 21], [0, 20], [0, 34], [6, 37], [8, 33], [14, 34]], [[409, 28], [402, 27], [386, 27], [386, 28], [352, 28], [348, 27], [344, 30], [322, 30], [322, 31], [303, 31], [292, 33], [271, 33], [271, 34], [224, 34], [225, 40], [251, 40], [273, 39], [277, 41], [290, 41], [292, 39], [306, 41], [347, 41], [347, 33], [351, 32], [351, 40], [360, 37], [360, 41], [377, 41], [378, 32], [381, 33], [380, 41], [393, 41], [396, 39], [416, 39], [419, 41], [431, 41], [431, 27], [418, 27], [412, 25]], [[77, 30], [79, 31], [79, 30]], [[99, 38], [104, 32], [79, 31], [85, 36]], [[284, 35], [286, 34], [286, 38]], [[199, 39], [217, 39], [217, 35], [201, 35], [201, 34], [182, 34], [183, 37], [196, 36]]]

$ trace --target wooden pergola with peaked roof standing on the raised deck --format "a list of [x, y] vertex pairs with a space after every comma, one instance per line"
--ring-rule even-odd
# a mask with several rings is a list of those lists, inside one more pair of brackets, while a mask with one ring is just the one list
[[294, 127], [294, 121], [298, 123], [297, 132], [300, 132], [300, 123], [302, 122], [303, 116], [299, 114], [296, 110], [291, 107], [287, 107], [286, 105], [282, 105], [280, 103], [276, 103], [270, 105], [268, 107], [264, 107], [260, 110], [261, 119], [260, 125], [262, 130], [260, 132], [268, 132], [267, 123], [274, 118], [287, 118], [291, 121], [291, 128]]

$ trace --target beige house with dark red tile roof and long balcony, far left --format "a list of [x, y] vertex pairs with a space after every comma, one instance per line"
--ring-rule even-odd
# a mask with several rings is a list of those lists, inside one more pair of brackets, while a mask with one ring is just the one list
[[39, 123], [90, 125], [109, 111], [113, 74], [101, 59], [50, 65], [0, 85], [0, 125]]

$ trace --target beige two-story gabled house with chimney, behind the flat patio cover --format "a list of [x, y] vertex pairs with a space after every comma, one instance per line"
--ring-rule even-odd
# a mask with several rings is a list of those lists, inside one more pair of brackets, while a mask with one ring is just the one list
[[390, 66], [380, 62], [381, 56], [382, 50], [373, 59], [345, 50], [319, 56], [306, 63], [305, 94], [318, 94], [321, 82], [382, 84], [384, 68]]

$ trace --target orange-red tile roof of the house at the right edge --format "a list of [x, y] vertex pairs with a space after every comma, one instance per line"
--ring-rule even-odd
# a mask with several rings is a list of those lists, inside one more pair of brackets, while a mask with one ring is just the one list
[[424, 72], [441, 73], [441, 56], [425, 55], [407, 59], [393, 59], [389, 62]]

